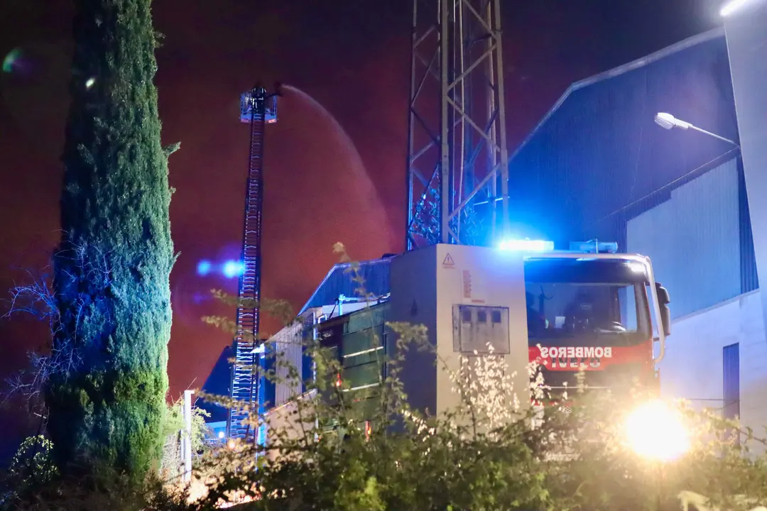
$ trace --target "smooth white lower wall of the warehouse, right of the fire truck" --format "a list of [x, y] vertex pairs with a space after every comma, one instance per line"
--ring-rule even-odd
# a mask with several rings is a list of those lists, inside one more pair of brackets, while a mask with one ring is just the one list
[[699, 407], [721, 408], [722, 349], [738, 342], [742, 422], [753, 427], [755, 433], [762, 433], [762, 426], [767, 426], [764, 339], [758, 290], [674, 320], [666, 357], [660, 362], [663, 395], [693, 399], [693, 405]]

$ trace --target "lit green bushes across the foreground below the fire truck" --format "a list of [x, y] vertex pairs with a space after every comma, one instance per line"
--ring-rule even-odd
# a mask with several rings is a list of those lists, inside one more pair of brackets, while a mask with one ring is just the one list
[[[350, 271], [359, 278], [355, 265]], [[359, 294], [366, 296], [361, 286]], [[745, 511], [767, 502], [767, 464], [748, 451], [763, 442], [749, 431], [742, 431], [741, 443], [724, 437], [738, 425], [712, 412], [669, 403], [690, 433], [689, 449], [665, 463], [637, 454], [626, 424], [636, 405], [650, 399], [642, 389], [611, 395], [581, 385], [565, 395], [569, 407], [535, 408], [515, 397], [498, 358], [463, 359], [456, 372], [437, 358], [458, 405], [439, 416], [412, 410], [399, 378], [402, 362], [408, 349], [433, 348], [423, 326], [388, 327], [396, 348], [375, 391], [351, 391], [343, 380], [337, 385], [341, 363], [307, 336], [304, 349], [318, 377], [268, 417], [252, 417], [271, 428], [268, 445], [233, 444], [210, 455], [199, 473], [207, 492], [187, 509], [250, 501], [242, 509]], [[279, 353], [275, 367], [289, 365]], [[529, 391], [545, 400], [537, 368], [529, 375]], [[288, 380], [297, 377], [288, 372]], [[361, 411], [357, 403], [366, 398], [377, 406]]]

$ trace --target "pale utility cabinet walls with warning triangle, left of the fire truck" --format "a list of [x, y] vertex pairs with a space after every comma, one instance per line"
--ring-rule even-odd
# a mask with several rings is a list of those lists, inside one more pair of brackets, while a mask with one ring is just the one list
[[[454, 346], [454, 305], [508, 309], [507, 375], [522, 405], [527, 396], [528, 340], [522, 255], [488, 247], [437, 244], [394, 257], [391, 262], [390, 321], [423, 325], [436, 354], [411, 351], [400, 377], [413, 408], [442, 413], [459, 404], [444, 367], [460, 368]], [[459, 323], [456, 321], [456, 328]], [[392, 336], [393, 337], [393, 336]], [[466, 356], [466, 354], [464, 354]], [[469, 355], [470, 356], [470, 355]], [[509, 396], [512, 400], [513, 396]]]

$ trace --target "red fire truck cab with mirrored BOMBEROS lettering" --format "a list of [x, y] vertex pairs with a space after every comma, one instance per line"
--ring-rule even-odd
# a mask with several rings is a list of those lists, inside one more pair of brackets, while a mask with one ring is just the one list
[[529, 360], [551, 395], [572, 391], [579, 372], [590, 389], [657, 388], [670, 297], [648, 257], [592, 241], [524, 259]]

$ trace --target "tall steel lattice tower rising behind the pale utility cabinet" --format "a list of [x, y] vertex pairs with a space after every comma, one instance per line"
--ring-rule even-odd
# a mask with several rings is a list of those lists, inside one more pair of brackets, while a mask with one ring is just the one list
[[498, 215], [509, 225], [500, 0], [413, 0], [412, 37], [407, 249], [472, 243], [480, 201], [495, 237]]

